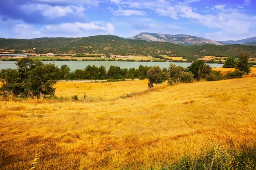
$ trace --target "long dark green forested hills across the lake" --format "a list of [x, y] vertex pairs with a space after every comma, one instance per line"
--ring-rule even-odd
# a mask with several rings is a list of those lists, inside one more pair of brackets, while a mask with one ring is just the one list
[[148, 42], [145, 40], [124, 39], [114, 35], [97, 35], [85, 38], [36, 38], [5, 39], [0, 38], [0, 49], [26, 50], [37, 49], [37, 53], [103, 53], [105, 55], [170, 55], [189, 60], [211, 55], [238, 57], [247, 53], [256, 57], [256, 46], [240, 44], [217, 46], [182, 46], [168, 42]]

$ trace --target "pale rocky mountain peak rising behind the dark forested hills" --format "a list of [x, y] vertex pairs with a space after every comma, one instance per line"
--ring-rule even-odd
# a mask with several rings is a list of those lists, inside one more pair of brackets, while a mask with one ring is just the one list
[[214, 45], [225, 45], [223, 42], [210, 40], [207, 38], [196, 37], [185, 34], [162, 34], [162, 33], [139, 33], [138, 35], [130, 38], [132, 40], [146, 40], [146, 41], [157, 41], [157, 42], [170, 42], [173, 44], [180, 44], [185, 46], [190, 45], [204, 45], [204, 44], [214, 44]]

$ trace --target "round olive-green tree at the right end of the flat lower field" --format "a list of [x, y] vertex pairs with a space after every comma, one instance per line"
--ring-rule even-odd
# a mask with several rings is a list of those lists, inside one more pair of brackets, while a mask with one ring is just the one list
[[159, 66], [153, 66], [147, 72], [148, 88], [153, 87], [153, 84], [161, 84], [168, 79], [168, 74], [163, 72]]

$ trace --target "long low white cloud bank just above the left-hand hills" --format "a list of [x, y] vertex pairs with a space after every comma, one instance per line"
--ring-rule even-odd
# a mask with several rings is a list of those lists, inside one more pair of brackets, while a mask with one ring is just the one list
[[[0, 22], [1, 23], [1, 22]], [[1, 29], [2, 30], [2, 29]], [[105, 22], [63, 23], [36, 28], [31, 24], [16, 24], [1, 33], [3, 38], [40, 38], [40, 37], [87, 37], [99, 34], [115, 35], [115, 26]]]

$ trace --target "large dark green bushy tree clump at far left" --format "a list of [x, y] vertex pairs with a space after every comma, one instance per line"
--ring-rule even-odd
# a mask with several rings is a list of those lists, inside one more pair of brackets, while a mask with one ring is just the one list
[[2, 73], [3, 94], [12, 93], [19, 97], [39, 97], [54, 95], [53, 85], [59, 76], [59, 68], [54, 64], [43, 64], [39, 60], [22, 58], [17, 61], [18, 69], [8, 69]]

